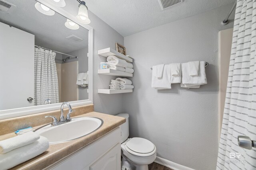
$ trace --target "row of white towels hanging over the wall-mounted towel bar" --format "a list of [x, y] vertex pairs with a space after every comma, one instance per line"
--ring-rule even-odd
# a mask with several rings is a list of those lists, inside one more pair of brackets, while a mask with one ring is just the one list
[[152, 88], [171, 89], [171, 84], [180, 83], [184, 88], [200, 88], [207, 84], [204, 61], [159, 64], [152, 68]]

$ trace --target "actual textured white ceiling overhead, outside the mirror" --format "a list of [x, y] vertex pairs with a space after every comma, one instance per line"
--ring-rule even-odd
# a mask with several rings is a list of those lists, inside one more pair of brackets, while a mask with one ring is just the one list
[[[235, 0], [184, 0], [161, 10], [158, 0], [85, 0], [88, 9], [123, 36], [193, 16]], [[227, 14], [230, 9], [227, 9]], [[226, 16], [223, 16], [223, 19]], [[90, 16], [89, 16], [90, 18]]]

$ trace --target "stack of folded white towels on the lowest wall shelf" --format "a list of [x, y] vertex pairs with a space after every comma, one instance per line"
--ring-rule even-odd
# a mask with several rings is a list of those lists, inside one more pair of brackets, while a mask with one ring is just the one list
[[110, 89], [133, 89], [132, 81], [127, 78], [116, 78], [111, 80]]

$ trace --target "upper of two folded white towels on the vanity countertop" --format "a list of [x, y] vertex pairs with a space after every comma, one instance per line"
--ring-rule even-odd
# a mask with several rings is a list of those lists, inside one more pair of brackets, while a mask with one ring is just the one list
[[10, 152], [11, 150], [29, 145], [38, 140], [40, 136], [32, 131], [0, 141], [0, 154]]

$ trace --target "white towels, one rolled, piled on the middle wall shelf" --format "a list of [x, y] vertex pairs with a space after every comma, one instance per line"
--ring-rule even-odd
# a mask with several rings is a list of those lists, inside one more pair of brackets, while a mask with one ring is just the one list
[[119, 59], [114, 55], [108, 56], [107, 61], [108, 61], [108, 68], [110, 69], [128, 72], [131, 74], [134, 72], [134, 69], [132, 69], [133, 68], [132, 63], [128, 63], [125, 60]]

